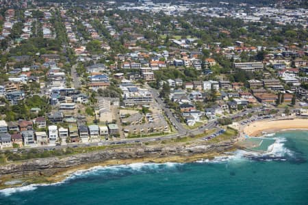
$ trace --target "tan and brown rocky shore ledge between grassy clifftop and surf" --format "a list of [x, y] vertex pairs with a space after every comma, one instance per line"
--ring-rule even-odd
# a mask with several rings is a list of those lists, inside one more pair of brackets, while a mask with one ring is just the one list
[[[159, 151], [157, 148], [121, 149], [108, 153], [79, 154], [68, 156], [65, 159], [34, 159], [23, 163], [10, 163], [0, 166], [0, 190], [25, 187], [30, 184], [54, 184], [66, 180], [75, 172], [97, 166], [107, 167], [133, 163], [192, 163], [200, 159], [214, 159], [215, 156], [224, 156], [227, 155], [224, 154], [225, 152], [235, 150], [234, 143], [235, 141], [229, 141], [209, 146], [194, 145], [189, 148], [165, 146], [160, 148], [161, 150], [158, 149]], [[151, 152], [149, 149], [152, 149]], [[99, 154], [101, 154], [101, 158], [99, 158]]]

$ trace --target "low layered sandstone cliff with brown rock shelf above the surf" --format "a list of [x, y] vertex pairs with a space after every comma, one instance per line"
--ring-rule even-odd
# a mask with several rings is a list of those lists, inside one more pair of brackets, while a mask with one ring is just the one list
[[[18, 163], [8, 163], [0, 166], [0, 186], [8, 187], [8, 182], [12, 179], [23, 179], [29, 182], [31, 178], [51, 179], [58, 174], [71, 171], [73, 169], [89, 168], [94, 165], [116, 165], [133, 162], [164, 162], [164, 161], [194, 161], [194, 156], [199, 159], [213, 157], [233, 148], [232, 141], [224, 141], [213, 144], [196, 145], [160, 145], [160, 146], [131, 146], [126, 148], [116, 148], [75, 154], [64, 158], [49, 157], [42, 159], [32, 159]], [[27, 180], [25, 180], [27, 179]], [[44, 180], [43, 180], [44, 181]], [[15, 186], [17, 184], [14, 184]], [[12, 187], [12, 184], [10, 184]]]

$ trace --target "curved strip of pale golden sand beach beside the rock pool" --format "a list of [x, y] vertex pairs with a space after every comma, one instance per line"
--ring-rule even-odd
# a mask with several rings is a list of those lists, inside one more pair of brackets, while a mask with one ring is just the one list
[[292, 120], [266, 120], [253, 122], [244, 127], [243, 131], [249, 136], [261, 135], [261, 132], [277, 132], [285, 129], [308, 129], [308, 119], [294, 118]]

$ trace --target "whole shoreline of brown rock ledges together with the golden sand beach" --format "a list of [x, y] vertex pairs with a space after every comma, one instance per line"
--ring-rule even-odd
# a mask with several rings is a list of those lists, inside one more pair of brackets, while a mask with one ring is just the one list
[[[287, 123], [287, 126], [285, 126], [286, 121], [292, 121], [293, 123], [291, 125]], [[302, 122], [302, 124], [298, 122]], [[277, 126], [277, 123], [280, 125]], [[299, 125], [295, 128], [289, 128], [294, 123]], [[264, 131], [277, 133], [292, 129], [308, 130], [308, 119], [294, 119], [294, 121], [264, 120], [242, 127], [242, 131], [246, 131], [249, 134], [252, 133], [255, 137], [263, 135], [262, 132]], [[27, 162], [10, 163], [7, 167], [5, 167], [6, 165], [0, 165], [0, 190], [21, 188], [27, 185], [44, 186], [61, 183], [65, 182], [67, 178], [73, 176], [76, 172], [83, 172], [98, 166], [110, 167], [133, 163], [193, 163], [201, 159], [211, 160], [216, 156], [227, 156], [226, 152], [248, 148], [247, 146], [239, 146], [238, 142], [243, 140], [244, 137], [238, 135], [238, 137], [233, 138], [231, 141], [221, 141], [220, 143], [209, 145], [194, 143], [191, 146], [181, 144], [178, 146], [118, 148], [112, 152], [90, 152], [68, 156], [64, 159], [53, 157], [50, 159], [34, 159]], [[24, 166], [27, 169], [24, 169]], [[31, 169], [29, 169], [29, 166]], [[11, 169], [11, 172], [5, 172], [7, 171], [5, 168]]]

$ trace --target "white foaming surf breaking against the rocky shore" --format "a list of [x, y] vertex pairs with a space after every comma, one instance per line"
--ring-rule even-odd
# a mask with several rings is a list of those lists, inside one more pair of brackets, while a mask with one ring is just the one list
[[[301, 162], [296, 151], [290, 150], [285, 146], [287, 139], [283, 137], [272, 137], [274, 135], [268, 134], [266, 139], [274, 139], [274, 143], [268, 146], [265, 152], [252, 150], [236, 150], [235, 152], [227, 152], [224, 156], [216, 156], [214, 159], [201, 159], [196, 163], [226, 163], [226, 162], [241, 162], [241, 161], [290, 161]], [[264, 137], [265, 137], [264, 136]], [[269, 138], [270, 137], [270, 138]], [[261, 137], [259, 137], [261, 138]], [[143, 173], [157, 173], [157, 172], [172, 172], [179, 171], [183, 165], [182, 163], [132, 163], [129, 165], [113, 165], [113, 166], [97, 166], [86, 170], [80, 170], [70, 174], [62, 182], [53, 184], [29, 184], [23, 187], [14, 187], [0, 190], [0, 195], [10, 196], [13, 193], [23, 191], [34, 191], [38, 187], [56, 186], [58, 184], [73, 182], [81, 178], [93, 178], [96, 180], [97, 176], [103, 177], [104, 180], [120, 178], [132, 174]]]

